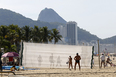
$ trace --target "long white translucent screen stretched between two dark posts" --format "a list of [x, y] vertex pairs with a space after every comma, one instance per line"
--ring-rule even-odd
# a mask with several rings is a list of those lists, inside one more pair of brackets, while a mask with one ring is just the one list
[[42, 68], [67, 68], [69, 55], [73, 66], [76, 53], [81, 56], [81, 67], [91, 66], [92, 46], [53, 45], [24, 42], [23, 66]]

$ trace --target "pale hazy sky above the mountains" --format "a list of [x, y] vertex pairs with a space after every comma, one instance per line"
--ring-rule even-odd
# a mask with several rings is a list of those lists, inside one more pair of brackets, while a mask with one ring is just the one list
[[100, 38], [116, 35], [116, 0], [0, 0], [0, 8], [33, 20], [46, 7]]

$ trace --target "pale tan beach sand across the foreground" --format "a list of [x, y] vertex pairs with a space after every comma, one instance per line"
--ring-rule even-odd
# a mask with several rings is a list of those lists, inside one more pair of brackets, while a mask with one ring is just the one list
[[[69, 70], [68, 68], [40, 68], [37, 70], [15, 71], [15, 73], [16, 77], [116, 77], [116, 67], [110, 67], [108, 65], [106, 68], [102, 67], [100, 69], [98, 66], [98, 58], [94, 57], [94, 59], [95, 65], [93, 69], [83, 68], [79, 71], [78, 67], [77, 70]], [[113, 60], [112, 62], [115, 63], [116, 61]], [[1, 77], [13, 77], [13, 74], [2, 74]]]

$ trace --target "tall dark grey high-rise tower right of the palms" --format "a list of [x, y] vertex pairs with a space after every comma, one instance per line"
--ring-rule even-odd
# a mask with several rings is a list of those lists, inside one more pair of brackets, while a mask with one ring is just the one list
[[67, 22], [67, 39], [69, 45], [77, 45], [77, 23]]

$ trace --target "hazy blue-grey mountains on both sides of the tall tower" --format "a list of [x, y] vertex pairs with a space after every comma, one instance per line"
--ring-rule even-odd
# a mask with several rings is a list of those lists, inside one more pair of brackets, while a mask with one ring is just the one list
[[[34, 27], [34, 25], [36, 25], [39, 27], [47, 26], [49, 29], [53, 29], [65, 23], [66, 21], [52, 9], [46, 8], [42, 10], [41, 13], [39, 14], [37, 21], [32, 20], [30, 18], [26, 18], [25, 16], [19, 13], [16, 13], [7, 9], [0, 9], [0, 25], [8, 26], [10, 24], [14, 24], [14, 25], [18, 25], [19, 27], [23, 27], [25, 25]], [[78, 41], [90, 42], [91, 40], [100, 39], [101, 43], [113, 43], [116, 40], [115, 37], [116, 36], [108, 38], [108, 39], [100, 39], [96, 35], [93, 35], [89, 33], [88, 31], [78, 27]]]

